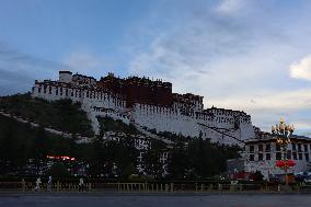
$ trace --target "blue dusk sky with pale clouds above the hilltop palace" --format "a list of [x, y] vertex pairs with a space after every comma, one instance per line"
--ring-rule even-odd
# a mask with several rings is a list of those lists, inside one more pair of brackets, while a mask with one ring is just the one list
[[0, 95], [59, 70], [146, 76], [311, 136], [310, 0], [0, 0]]

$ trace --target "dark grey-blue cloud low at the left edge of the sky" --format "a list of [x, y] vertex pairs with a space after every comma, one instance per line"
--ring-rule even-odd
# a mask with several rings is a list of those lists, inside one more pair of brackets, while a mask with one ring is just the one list
[[66, 66], [34, 57], [0, 42], [0, 95], [30, 91], [35, 79], [56, 78]]

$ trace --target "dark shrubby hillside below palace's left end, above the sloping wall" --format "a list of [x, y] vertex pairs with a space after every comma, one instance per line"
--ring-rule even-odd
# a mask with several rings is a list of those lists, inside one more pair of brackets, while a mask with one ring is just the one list
[[70, 100], [47, 102], [32, 99], [30, 93], [1, 97], [0, 110], [49, 126], [55, 129], [93, 136], [92, 126], [85, 112]]

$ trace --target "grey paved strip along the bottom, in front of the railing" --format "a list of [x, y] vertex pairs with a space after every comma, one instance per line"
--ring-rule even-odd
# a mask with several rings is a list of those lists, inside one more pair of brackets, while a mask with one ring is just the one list
[[0, 207], [309, 207], [311, 195], [0, 194]]

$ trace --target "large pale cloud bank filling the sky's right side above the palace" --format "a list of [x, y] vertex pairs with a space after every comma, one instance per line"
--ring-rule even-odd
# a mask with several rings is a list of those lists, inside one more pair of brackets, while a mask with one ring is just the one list
[[292, 81], [288, 66], [309, 48], [298, 49], [290, 26], [275, 26], [276, 16], [263, 18], [262, 8], [252, 4], [252, 19], [222, 15], [246, 7], [250, 1], [221, 1], [168, 28], [136, 53], [129, 72], [171, 81], [173, 92], [204, 95], [205, 107], [244, 111], [264, 130], [281, 116], [302, 127], [301, 117], [311, 117], [311, 89]]

